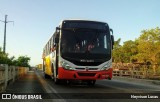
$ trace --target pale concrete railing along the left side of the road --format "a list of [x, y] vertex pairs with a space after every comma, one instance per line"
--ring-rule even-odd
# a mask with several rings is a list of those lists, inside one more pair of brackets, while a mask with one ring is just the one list
[[4, 92], [9, 83], [24, 76], [28, 72], [28, 67], [8, 66], [6, 64], [0, 65], [0, 92]]

